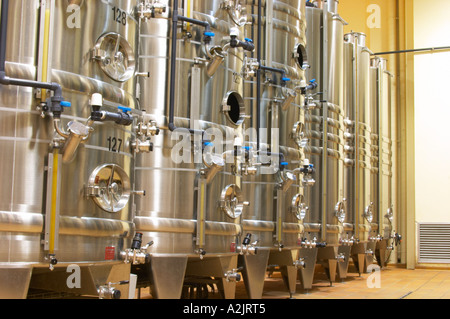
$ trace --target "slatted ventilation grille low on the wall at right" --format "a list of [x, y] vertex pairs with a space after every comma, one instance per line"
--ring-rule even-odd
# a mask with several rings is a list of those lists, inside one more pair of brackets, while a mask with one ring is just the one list
[[419, 224], [419, 262], [450, 264], [450, 224]]

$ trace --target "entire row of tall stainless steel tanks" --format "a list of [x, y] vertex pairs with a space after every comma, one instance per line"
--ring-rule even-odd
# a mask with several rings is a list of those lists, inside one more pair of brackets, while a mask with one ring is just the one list
[[390, 76], [343, 25], [337, 1], [3, 0], [0, 296], [385, 265]]

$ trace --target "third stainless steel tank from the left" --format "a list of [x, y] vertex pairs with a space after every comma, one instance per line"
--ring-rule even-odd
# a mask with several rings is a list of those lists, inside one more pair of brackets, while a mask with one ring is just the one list
[[305, 1], [247, 4], [253, 22], [247, 36], [257, 49], [245, 60], [245, 99], [252, 128], [260, 134], [247, 144], [259, 166], [243, 177], [243, 194], [250, 202], [243, 227], [258, 240], [258, 251], [269, 252], [269, 267], [279, 267], [291, 294], [297, 269], [303, 267], [299, 250], [307, 210], [300, 173], [305, 159], [300, 89], [307, 58], [304, 9]]

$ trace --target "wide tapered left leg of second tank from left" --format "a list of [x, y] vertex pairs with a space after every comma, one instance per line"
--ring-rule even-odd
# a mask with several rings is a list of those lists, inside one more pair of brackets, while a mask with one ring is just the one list
[[179, 299], [187, 257], [154, 257], [150, 261], [150, 288], [155, 299]]

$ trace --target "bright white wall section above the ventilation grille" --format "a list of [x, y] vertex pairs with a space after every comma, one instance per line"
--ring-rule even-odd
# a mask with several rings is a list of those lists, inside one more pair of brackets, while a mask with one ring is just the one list
[[[449, 13], [414, 0], [415, 48], [450, 46]], [[450, 51], [416, 53], [414, 86], [416, 222], [450, 223]]]

